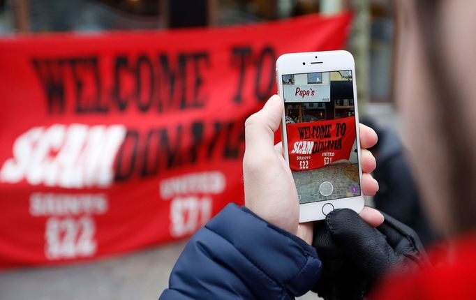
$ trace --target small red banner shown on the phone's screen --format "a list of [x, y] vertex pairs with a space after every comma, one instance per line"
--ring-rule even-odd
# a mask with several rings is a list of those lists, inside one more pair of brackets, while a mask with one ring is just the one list
[[355, 117], [286, 124], [293, 171], [318, 169], [348, 160], [355, 142]]

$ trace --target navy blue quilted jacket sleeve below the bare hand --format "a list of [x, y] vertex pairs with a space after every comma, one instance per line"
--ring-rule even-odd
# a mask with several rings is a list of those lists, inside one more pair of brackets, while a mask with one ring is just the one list
[[321, 267], [305, 241], [228, 204], [188, 242], [160, 300], [294, 299]]

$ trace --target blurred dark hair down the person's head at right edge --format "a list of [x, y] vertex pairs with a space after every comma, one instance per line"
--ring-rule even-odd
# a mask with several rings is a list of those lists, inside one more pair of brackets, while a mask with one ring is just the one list
[[[442, 22], [440, 13], [442, 0], [415, 0], [419, 30], [421, 31], [423, 51], [426, 54], [426, 66], [430, 70], [431, 89], [434, 91], [434, 103], [438, 124], [436, 130], [442, 133], [442, 145], [447, 153], [451, 151], [452, 161], [448, 163], [448, 183], [450, 195], [447, 209], [450, 214], [455, 233], [474, 230], [476, 227], [476, 149], [472, 138], [468, 137], [463, 128], [476, 126], [466, 123], [461, 116], [465, 110], [464, 97], [457, 88], [455, 79], [446, 68], [449, 62], [442, 52], [440, 38]], [[452, 104], [448, 105], [451, 99]], [[470, 127], [468, 127], [470, 128]], [[436, 145], [429, 145], [436, 147]], [[431, 170], [429, 170], [431, 172]]]

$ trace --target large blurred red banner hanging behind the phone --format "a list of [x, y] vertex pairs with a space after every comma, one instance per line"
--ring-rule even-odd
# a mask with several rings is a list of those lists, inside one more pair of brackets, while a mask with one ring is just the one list
[[187, 237], [241, 202], [276, 58], [340, 49], [350, 19], [1, 39], [0, 267]]

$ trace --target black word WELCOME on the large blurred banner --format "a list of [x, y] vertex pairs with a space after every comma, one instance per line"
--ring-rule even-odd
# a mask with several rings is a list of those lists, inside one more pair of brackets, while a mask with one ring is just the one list
[[[125, 112], [131, 103], [140, 112], [149, 112], [154, 105], [158, 112], [204, 107], [204, 70], [211, 67], [209, 53], [179, 53], [173, 61], [165, 53], [158, 54], [156, 60], [147, 54], [133, 59], [125, 54], [114, 57], [109, 97], [103, 94], [100, 57], [32, 59], [31, 65], [43, 87], [50, 114], [63, 114], [68, 107], [74, 107], [78, 114], [105, 113], [110, 109]], [[72, 95], [74, 106], [68, 105], [68, 95]]]

